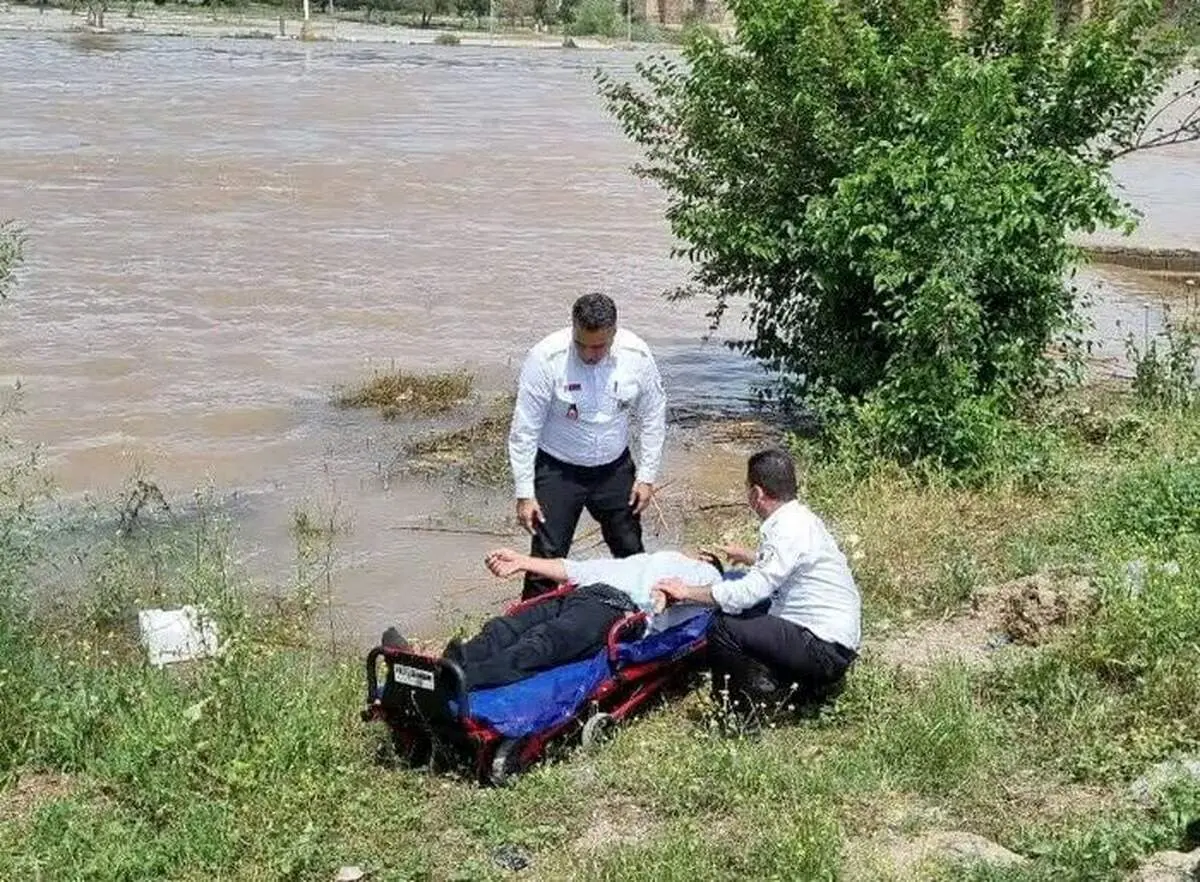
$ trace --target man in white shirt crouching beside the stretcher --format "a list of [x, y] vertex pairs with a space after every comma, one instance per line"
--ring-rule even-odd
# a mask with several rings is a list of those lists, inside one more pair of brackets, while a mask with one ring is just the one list
[[660, 580], [656, 605], [718, 607], [708, 630], [714, 697], [734, 708], [786, 698], [821, 701], [858, 656], [862, 601], [838, 544], [796, 498], [796, 466], [782, 450], [750, 457], [746, 498], [762, 521], [757, 553], [725, 548], [750, 570], [738, 580]]

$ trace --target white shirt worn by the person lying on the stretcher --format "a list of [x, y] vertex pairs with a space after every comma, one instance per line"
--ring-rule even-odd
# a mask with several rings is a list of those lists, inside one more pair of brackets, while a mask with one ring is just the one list
[[673, 604], [662, 612], [654, 613], [650, 589], [660, 578], [677, 576], [689, 584], [719, 582], [721, 574], [712, 564], [697, 560], [678, 551], [654, 551], [623, 558], [595, 558], [593, 560], [563, 560], [566, 578], [577, 586], [602, 583], [628, 594], [637, 608], [650, 617], [649, 629], [664, 631], [701, 612], [697, 604]]

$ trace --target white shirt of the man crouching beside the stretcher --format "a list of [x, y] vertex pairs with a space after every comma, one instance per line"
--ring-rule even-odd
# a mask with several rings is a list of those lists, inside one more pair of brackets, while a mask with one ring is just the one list
[[792, 499], [758, 528], [758, 554], [739, 580], [713, 586], [713, 600], [739, 613], [770, 599], [770, 614], [821, 640], [858, 650], [862, 599], [845, 554], [821, 518]]

